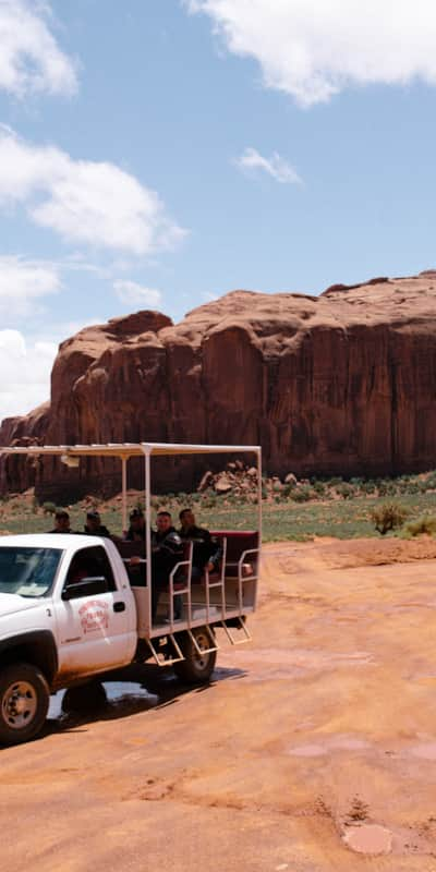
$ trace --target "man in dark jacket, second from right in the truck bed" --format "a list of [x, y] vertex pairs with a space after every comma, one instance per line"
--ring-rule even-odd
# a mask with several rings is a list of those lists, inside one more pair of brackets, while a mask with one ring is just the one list
[[[159, 596], [169, 583], [171, 570], [183, 560], [183, 543], [172, 525], [169, 511], [159, 511], [156, 531], [152, 531], [152, 620], [155, 620]], [[174, 596], [174, 619], [181, 617], [181, 596]]]

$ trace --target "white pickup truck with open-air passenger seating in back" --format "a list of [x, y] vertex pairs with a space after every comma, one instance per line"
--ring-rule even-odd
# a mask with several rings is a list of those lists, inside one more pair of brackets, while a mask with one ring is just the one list
[[[178, 448], [183, 453], [183, 447]], [[38, 449], [45, 450], [52, 453], [55, 449]], [[132, 446], [129, 450], [134, 456]], [[84, 447], [69, 451], [81, 457]], [[32, 449], [26, 453], [33, 453]], [[99, 453], [105, 453], [102, 447]], [[143, 453], [149, 458], [153, 446]], [[146, 508], [149, 513], [148, 498]], [[147, 521], [150, 524], [150, 518]], [[216, 662], [217, 631], [222, 630], [232, 644], [231, 628], [242, 630], [241, 641], [250, 639], [245, 619], [255, 608], [257, 592], [258, 531], [219, 531], [217, 535], [223, 546], [219, 573], [210, 578], [206, 573], [194, 584], [191, 546], [171, 573], [162, 597], [165, 613], [155, 622], [147, 550], [141, 560], [143, 578], [137, 579], [136, 567], [135, 581], [135, 574], [128, 573], [130, 559], [123, 559], [120, 545], [109, 538], [52, 533], [2, 536], [0, 742], [15, 744], [36, 736], [45, 723], [50, 693], [132, 662], [153, 658], [172, 666], [185, 681], [207, 681]], [[180, 569], [184, 581], [177, 585]], [[178, 618], [174, 596], [183, 601]]]

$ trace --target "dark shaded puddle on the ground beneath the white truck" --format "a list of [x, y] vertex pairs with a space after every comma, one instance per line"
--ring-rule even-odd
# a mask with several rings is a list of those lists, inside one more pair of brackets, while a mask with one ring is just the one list
[[[77, 693], [78, 701], [73, 707], [69, 705], [72, 693]], [[83, 694], [83, 697], [82, 697]], [[81, 699], [82, 697], [82, 699]], [[70, 690], [60, 690], [50, 698], [50, 705], [47, 717], [52, 720], [61, 720], [71, 717], [71, 714], [80, 714], [92, 710], [101, 713], [114, 713], [131, 708], [136, 711], [153, 708], [159, 702], [156, 693], [150, 693], [140, 682], [136, 681], [101, 681], [93, 686], [82, 685]]]

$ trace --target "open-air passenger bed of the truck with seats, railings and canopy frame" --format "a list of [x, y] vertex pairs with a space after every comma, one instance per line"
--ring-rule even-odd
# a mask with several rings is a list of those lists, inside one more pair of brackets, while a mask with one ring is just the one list
[[[167, 607], [152, 622], [152, 459], [154, 457], [175, 457], [184, 455], [240, 455], [255, 457], [257, 469], [257, 530], [211, 531], [220, 542], [222, 559], [218, 573], [207, 571], [201, 583], [192, 583], [192, 545], [186, 548], [183, 561], [171, 572], [167, 594], [161, 597], [160, 607]], [[128, 528], [128, 462], [131, 458], [144, 458], [145, 487], [145, 558], [141, 560], [145, 570], [141, 583], [132, 582], [132, 591], [137, 609], [137, 633], [143, 646], [143, 656], [153, 656], [159, 665], [172, 665], [187, 658], [191, 649], [197, 657], [216, 652], [219, 647], [216, 630], [222, 629], [223, 639], [230, 644], [247, 641], [251, 637], [246, 628], [246, 617], [256, 608], [257, 582], [262, 541], [262, 451], [259, 446], [237, 445], [178, 445], [164, 443], [123, 443], [108, 445], [61, 445], [61, 446], [13, 446], [0, 448], [1, 456], [26, 455], [28, 457], [58, 456], [70, 467], [80, 464], [81, 458], [119, 458], [121, 462], [122, 528]], [[128, 543], [125, 543], [125, 546]], [[121, 556], [129, 569], [129, 548], [118, 544]], [[124, 552], [124, 554], [123, 554]], [[131, 552], [132, 553], [132, 552]], [[183, 574], [182, 586], [178, 578]], [[183, 600], [182, 617], [174, 618], [174, 596]], [[198, 628], [205, 628], [203, 634]], [[233, 630], [233, 632], [232, 632]], [[235, 639], [234, 630], [241, 631]], [[194, 632], [193, 632], [194, 631]], [[168, 639], [171, 647], [168, 646]], [[187, 647], [186, 647], [187, 641]], [[146, 646], [146, 647], [145, 647]]]

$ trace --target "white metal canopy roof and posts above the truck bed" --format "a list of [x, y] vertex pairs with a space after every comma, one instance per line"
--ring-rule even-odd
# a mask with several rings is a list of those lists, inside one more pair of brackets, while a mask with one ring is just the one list
[[[121, 460], [122, 526], [128, 525], [128, 461], [131, 457], [145, 460], [145, 521], [146, 553], [152, 554], [152, 457], [175, 457], [180, 455], [238, 455], [253, 453], [257, 467], [257, 524], [262, 537], [262, 448], [258, 445], [180, 445], [178, 443], [109, 443], [108, 445], [29, 445], [0, 448], [0, 457], [9, 455], [58, 456], [68, 467], [76, 467], [81, 457], [118, 457]], [[152, 561], [146, 562], [147, 586], [152, 589]]]

